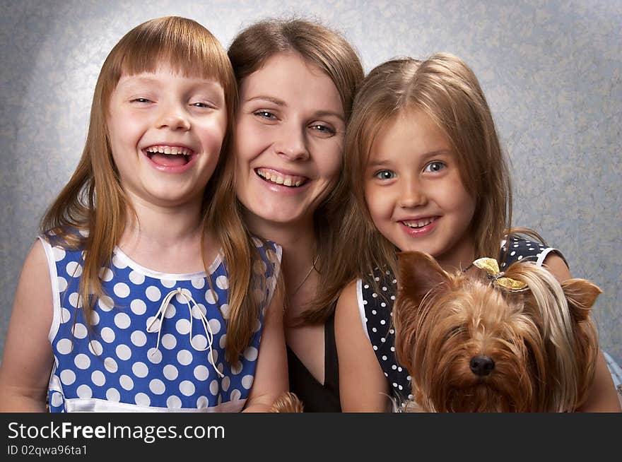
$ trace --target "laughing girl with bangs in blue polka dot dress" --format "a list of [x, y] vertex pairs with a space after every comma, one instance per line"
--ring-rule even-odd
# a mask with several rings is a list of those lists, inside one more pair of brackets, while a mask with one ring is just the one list
[[194, 20], [115, 45], [23, 266], [2, 410], [265, 411], [286, 391], [281, 249], [244, 231], [220, 186], [236, 102]]

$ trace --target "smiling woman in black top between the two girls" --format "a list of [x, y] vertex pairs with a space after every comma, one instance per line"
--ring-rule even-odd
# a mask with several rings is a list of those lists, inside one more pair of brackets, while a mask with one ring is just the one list
[[305, 411], [339, 412], [339, 288], [325, 288], [340, 271], [334, 191], [363, 67], [341, 34], [300, 19], [250, 25], [228, 54], [240, 90], [229, 167], [249, 230], [283, 247], [290, 388]]

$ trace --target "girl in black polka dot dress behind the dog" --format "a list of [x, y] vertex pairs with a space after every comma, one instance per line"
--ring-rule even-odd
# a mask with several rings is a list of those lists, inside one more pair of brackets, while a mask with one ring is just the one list
[[[411, 398], [391, 317], [399, 251], [425, 251], [445, 271], [467, 274], [481, 256], [498, 256], [502, 271], [533, 259], [570, 278], [561, 253], [535, 232], [507, 231], [507, 163], [486, 97], [458, 57], [373, 69], [353, 105], [344, 158], [351, 197], [337, 264], [356, 275], [335, 316], [344, 411], [388, 410]], [[582, 410], [619, 410], [602, 353]]]

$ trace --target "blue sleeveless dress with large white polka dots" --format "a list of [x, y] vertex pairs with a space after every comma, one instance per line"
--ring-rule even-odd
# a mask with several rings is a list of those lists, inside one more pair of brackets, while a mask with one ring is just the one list
[[54, 316], [51, 412], [238, 412], [252, 387], [264, 309], [278, 276], [281, 248], [254, 239], [265, 276], [264, 305], [250, 345], [225, 361], [228, 273], [220, 256], [206, 273], [165, 274], [143, 268], [120, 249], [102, 268], [106, 294], [89, 332], [78, 303], [82, 252], [40, 237], [49, 263]]

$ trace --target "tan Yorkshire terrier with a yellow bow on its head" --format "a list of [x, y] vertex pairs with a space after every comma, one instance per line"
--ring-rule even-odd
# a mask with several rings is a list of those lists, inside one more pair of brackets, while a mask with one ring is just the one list
[[584, 279], [559, 283], [518, 261], [500, 273], [479, 259], [479, 278], [442, 270], [422, 252], [398, 261], [397, 359], [419, 412], [572, 412], [594, 379], [597, 333], [589, 317], [602, 292]]

